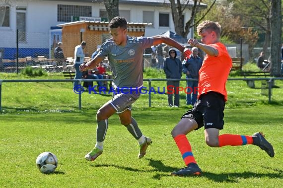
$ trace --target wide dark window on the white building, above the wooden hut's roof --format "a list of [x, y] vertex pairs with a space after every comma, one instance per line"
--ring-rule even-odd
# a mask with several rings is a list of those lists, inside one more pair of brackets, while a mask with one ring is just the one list
[[71, 16], [91, 17], [91, 6], [58, 4], [57, 21], [71, 22]]

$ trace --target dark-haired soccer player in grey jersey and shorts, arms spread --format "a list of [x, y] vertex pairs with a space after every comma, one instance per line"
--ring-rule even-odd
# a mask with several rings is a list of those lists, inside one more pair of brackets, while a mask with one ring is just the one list
[[[95, 160], [103, 152], [103, 141], [108, 128], [108, 118], [118, 113], [120, 122], [140, 144], [140, 153], [138, 158], [145, 155], [148, 145], [152, 142], [150, 138], [145, 137], [136, 120], [131, 115], [131, 105], [139, 97], [139, 88], [142, 87], [142, 56], [143, 49], [165, 43], [184, 51], [185, 57], [191, 54], [189, 49], [181, 46], [174, 40], [165, 36], [154, 37], [129, 37], [127, 36], [127, 21], [122, 17], [115, 17], [109, 23], [111, 39], [105, 42], [99, 49], [98, 54], [86, 64], [81, 64], [80, 71], [92, 69], [101, 62], [105, 56], [108, 56], [110, 65], [113, 67], [114, 80], [113, 98], [106, 102], [96, 114], [96, 144], [93, 149], [85, 155], [88, 161]], [[119, 88], [126, 88], [118, 92]], [[127, 91], [125, 91], [127, 90]]]

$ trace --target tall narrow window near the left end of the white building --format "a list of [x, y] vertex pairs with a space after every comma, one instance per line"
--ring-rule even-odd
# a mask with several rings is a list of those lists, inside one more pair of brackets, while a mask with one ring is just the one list
[[16, 7], [16, 28], [19, 31], [19, 42], [26, 41], [26, 7]]

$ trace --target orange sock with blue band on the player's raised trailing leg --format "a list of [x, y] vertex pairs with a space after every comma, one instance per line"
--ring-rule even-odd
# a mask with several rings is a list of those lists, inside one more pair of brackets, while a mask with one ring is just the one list
[[252, 144], [253, 143], [253, 137], [252, 136], [244, 136], [244, 135], [229, 135], [224, 134], [218, 136], [219, 141], [219, 147], [225, 146], [225, 145], [246, 145], [246, 144]]

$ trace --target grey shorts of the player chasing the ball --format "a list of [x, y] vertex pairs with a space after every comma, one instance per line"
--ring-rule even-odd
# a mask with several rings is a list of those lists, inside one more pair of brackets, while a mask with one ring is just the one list
[[140, 97], [140, 95], [139, 91], [136, 90], [115, 90], [110, 104], [115, 108], [117, 113], [122, 113], [125, 110], [131, 110], [132, 104]]

